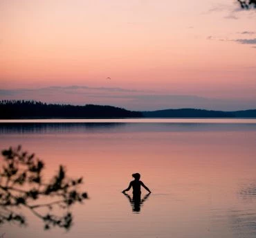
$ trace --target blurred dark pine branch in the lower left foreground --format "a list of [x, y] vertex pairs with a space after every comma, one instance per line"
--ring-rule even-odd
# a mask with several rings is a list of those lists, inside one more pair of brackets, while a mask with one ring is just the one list
[[79, 192], [82, 177], [67, 178], [64, 167], [45, 183], [42, 177], [44, 162], [34, 154], [22, 151], [21, 146], [2, 151], [3, 166], [0, 169], [0, 224], [17, 223], [26, 225], [26, 217], [19, 214], [19, 208], [27, 208], [41, 219], [44, 228], [55, 226], [68, 229], [72, 225], [71, 212], [55, 214], [57, 208], [68, 210], [75, 203], [87, 198], [86, 192]]

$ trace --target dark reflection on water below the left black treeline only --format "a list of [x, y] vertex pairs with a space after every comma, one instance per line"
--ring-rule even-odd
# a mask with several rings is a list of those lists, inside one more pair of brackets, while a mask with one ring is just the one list
[[116, 122], [17, 122], [17, 123], [1, 123], [0, 134], [55, 134], [58, 133], [79, 133], [84, 131], [98, 131], [113, 129], [114, 127], [122, 127], [126, 123], [116, 123]]

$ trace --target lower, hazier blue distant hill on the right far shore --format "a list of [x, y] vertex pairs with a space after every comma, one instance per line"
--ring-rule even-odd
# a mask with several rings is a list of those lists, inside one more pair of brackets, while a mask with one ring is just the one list
[[143, 111], [145, 118], [256, 118], [255, 110], [212, 111], [203, 109], [166, 109]]

